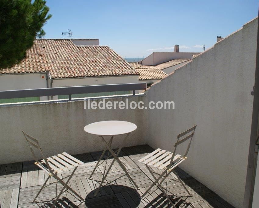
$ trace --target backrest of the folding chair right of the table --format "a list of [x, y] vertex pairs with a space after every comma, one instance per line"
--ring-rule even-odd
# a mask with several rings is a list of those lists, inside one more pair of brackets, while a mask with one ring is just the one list
[[193, 138], [193, 135], [194, 135], [194, 131], [196, 129], [196, 126], [193, 126], [192, 128], [189, 128], [188, 130], [180, 133], [179, 135], [177, 135], [177, 138], [176, 138], [176, 143], [174, 145], [175, 149], [174, 149], [174, 152], [173, 152], [173, 155], [172, 155], [172, 159], [171, 159], [171, 162], [170, 162], [170, 165], [172, 165], [172, 162], [173, 162], [173, 158], [174, 158], [174, 155], [176, 154], [176, 148], [178, 145], [182, 144], [183, 142], [185, 141], [189, 141], [189, 144], [187, 146], [187, 149], [186, 149], [186, 152], [185, 154], [182, 156], [183, 158], [186, 157], [186, 155], [188, 154], [189, 152], [189, 149], [190, 149], [190, 145], [191, 145], [191, 142], [192, 142], [192, 138]]

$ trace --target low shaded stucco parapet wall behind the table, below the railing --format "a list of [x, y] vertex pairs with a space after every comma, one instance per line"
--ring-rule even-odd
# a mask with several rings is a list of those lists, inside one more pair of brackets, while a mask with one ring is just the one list
[[[130, 101], [142, 100], [143, 96], [131, 96]], [[124, 101], [127, 97], [114, 97], [107, 101]], [[102, 101], [102, 100], [96, 100]], [[48, 102], [48, 101], [47, 101]], [[87, 102], [86, 102], [87, 106]], [[0, 104], [0, 164], [33, 160], [22, 131], [37, 138], [45, 156], [60, 152], [78, 154], [101, 151], [105, 143], [97, 135], [83, 131], [87, 124], [105, 120], [130, 121], [137, 125], [123, 146], [144, 144], [143, 117], [140, 110], [86, 109], [84, 101], [63, 103], [27, 104], [2, 106]], [[112, 148], [118, 148], [123, 135], [115, 136]], [[106, 138], [106, 137], [105, 137]]]

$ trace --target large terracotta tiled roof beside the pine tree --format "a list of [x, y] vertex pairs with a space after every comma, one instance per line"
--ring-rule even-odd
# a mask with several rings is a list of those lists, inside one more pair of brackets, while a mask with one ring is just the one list
[[0, 73], [49, 72], [51, 78], [138, 75], [108, 46], [75, 46], [70, 39], [37, 39], [26, 58]]

